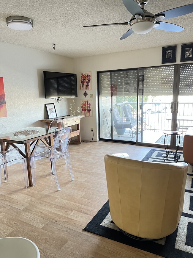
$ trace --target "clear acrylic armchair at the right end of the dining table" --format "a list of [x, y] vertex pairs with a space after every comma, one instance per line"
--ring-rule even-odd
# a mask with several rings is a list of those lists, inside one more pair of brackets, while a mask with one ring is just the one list
[[[63, 123], [63, 121], [62, 121], [62, 123]], [[61, 131], [57, 132], [57, 135], [54, 139], [53, 146], [49, 146], [49, 147], [43, 146], [43, 145], [35, 146], [34, 154], [30, 158], [31, 168], [32, 168], [33, 185], [35, 185], [34, 161], [40, 157], [48, 158], [51, 161], [52, 173], [55, 177], [58, 190], [60, 190], [60, 185], [58, 182], [58, 175], [57, 175], [57, 169], [56, 169], [56, 161], [57, 160], [60, 160], [61, 158], [66, 157], [71, 178], [72, 178], [72, 180], [74, 180], [74, 175], [73, 175], [72, 165], [71, 165], [71, 160], [70, 160], [70, 153], [68, 151], [71, 132], [72, 132], [71, 127], [62, 128]], [[41, 151], [41, 152], [39, 152], [39, 151]]]

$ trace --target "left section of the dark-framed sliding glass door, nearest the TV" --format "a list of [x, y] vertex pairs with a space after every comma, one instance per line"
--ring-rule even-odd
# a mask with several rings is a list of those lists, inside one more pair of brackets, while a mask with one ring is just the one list
[[99, 72], [100, 139], [136, 142], [137, 69]]

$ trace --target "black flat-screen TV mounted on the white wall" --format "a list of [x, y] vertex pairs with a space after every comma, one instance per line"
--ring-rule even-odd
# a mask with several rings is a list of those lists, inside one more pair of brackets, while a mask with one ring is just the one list
[[45, 98], [77, 97], [76, 74], [44, 71]]

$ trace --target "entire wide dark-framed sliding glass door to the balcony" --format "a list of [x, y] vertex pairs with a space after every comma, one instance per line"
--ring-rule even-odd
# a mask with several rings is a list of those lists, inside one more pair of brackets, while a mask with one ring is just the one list
[[[99, 138], [164, 146], [193, 126], [193, 64], [98, 72]], [[168, 147], [176, 148], [176, 135]]]

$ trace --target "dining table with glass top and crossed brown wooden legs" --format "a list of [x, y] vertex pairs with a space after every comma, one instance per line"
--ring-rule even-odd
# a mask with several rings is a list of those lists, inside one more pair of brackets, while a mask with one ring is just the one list
[[[31, 174], [31, 164], [30, 157], [34, 152], [34, 148], [31, 150], [32, 142], [34, 145], [37, 145], [40, 141], [44, 143], [45, 146], [53, 145], [53, 135], [61, 131], [61, 129], [50, 129], [44, 127], [26, 127], [18, 130], [3, 132], [0, 134], [0, 145], [1, 151], [7, 151], [10, 146], [13, 148], [18, 148], [20, 154], [26, 158], [27, 163], [27, 171], [28, 171], [28, 179], [29, 185], [32, 186], [32, 174]], [[25, 152], [23, 152], [16, 144], [23, 144], [25, 147]], [[5, 168], [7, 173], [7, 168]]]

